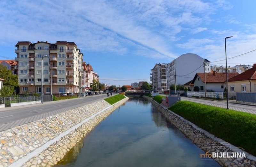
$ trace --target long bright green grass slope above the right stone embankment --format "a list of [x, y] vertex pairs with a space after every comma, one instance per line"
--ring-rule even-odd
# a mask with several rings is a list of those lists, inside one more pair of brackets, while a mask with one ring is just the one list
[[255, 114], [188, 101], [179, 101], [172, 105], [169, 110], [256, 156]]

